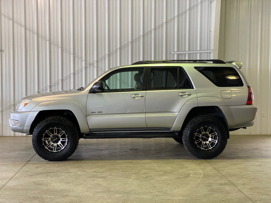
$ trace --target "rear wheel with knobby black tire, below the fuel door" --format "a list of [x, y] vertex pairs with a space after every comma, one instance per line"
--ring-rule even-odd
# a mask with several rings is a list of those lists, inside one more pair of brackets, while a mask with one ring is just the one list
[[186, 124], [182, 141], [185, 149], [193, 156], [210, 159], [223, 152], [228, 135], [219, 119], [209, 115], [200, 115]]

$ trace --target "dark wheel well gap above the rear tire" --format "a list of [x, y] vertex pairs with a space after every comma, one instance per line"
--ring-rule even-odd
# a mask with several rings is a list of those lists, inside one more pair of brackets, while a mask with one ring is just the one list
[[198, 115], [210, 115], [219, 119], [225, 125], [229, 139], [228, 122], [222, 110], [218, 106], [197, 106], [191, 109], [182, 124], [181, 132], [185, 128], [185, 125], [188, 123], [188, 121]]

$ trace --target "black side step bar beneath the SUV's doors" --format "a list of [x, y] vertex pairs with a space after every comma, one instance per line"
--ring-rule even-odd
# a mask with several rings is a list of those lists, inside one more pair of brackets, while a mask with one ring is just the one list
[[178, 132], [93, 132], [83, 133], [84, 139], [108, 139], [108, 138], [155, 138], [178, 137]]

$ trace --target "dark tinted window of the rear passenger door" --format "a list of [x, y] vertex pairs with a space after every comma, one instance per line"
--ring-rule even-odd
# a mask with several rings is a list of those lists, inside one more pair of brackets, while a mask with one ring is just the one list
[[191, 88], [190, 82], [181, 68], [151, 68], [151, 90]]

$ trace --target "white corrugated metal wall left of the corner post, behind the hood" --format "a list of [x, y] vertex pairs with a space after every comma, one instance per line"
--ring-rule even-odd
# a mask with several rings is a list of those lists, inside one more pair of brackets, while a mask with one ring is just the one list
[[22, 97], [138, 60], [212, 58], [215, 2], [0, 0], [0, 136], [22, 135], [8, 125]]

